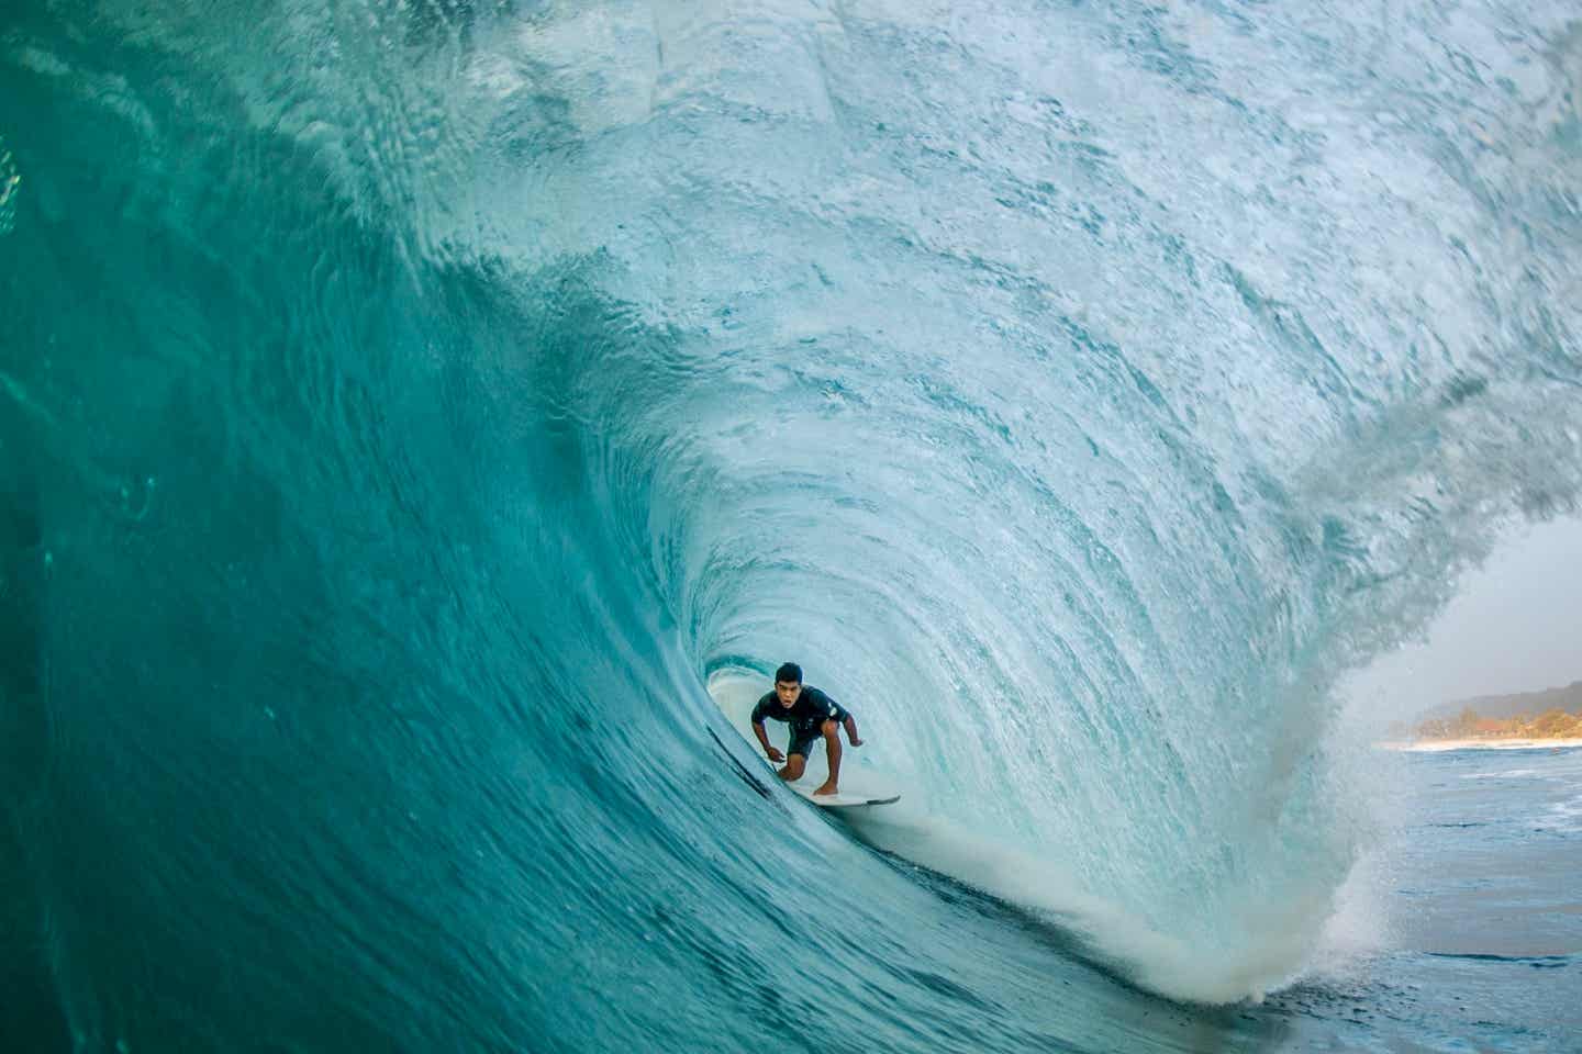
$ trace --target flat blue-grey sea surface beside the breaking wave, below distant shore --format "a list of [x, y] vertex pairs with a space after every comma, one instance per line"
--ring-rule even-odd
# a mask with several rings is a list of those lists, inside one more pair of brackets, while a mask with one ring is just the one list
[[[1291, 1049], [1574, 1051], [1582, 749], [1400, 755], [1345, 967], [1272, 996]], [[1346, 915], [1351, 918], [1345, 918]]]

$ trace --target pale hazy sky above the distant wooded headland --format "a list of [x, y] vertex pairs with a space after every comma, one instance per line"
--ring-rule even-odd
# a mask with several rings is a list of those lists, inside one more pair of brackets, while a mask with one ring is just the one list
[[1582, 520], [1504, 539], [1429, 627], [1427, 640], [1380, 657], [1346, 687], [1389, 717], [1473, 695], [1582, 679]]

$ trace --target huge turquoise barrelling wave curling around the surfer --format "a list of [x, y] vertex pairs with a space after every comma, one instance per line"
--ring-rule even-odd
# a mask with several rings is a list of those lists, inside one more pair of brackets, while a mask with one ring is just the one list
[[[41, 1037], [1256, 996], [1370, 828], [1334, 679], [1576, 507], [1569, 3], [17, 6]], [[706, 681], [783, 659], [908, 787], [886, 853], [755, 792]]]

